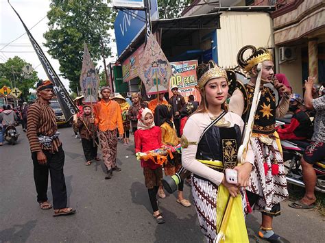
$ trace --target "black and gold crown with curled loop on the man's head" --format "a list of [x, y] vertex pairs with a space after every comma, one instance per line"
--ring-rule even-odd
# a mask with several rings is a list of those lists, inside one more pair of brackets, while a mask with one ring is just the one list
[[[243, 54], [247, 50], [252, 50], [252, 55], [244, 60]], [[256, 47], [248, 45], [242, 47], [237, 54], [237, 63], [245, 73], [251, 71], [252, 68], [260, 62], [264, 62], [266, 60], [272, 61], [273, 58], [271, 53], [269, 53], [269, 51], [263, 47], [258, 47], [258, 49], [256, 49]]]

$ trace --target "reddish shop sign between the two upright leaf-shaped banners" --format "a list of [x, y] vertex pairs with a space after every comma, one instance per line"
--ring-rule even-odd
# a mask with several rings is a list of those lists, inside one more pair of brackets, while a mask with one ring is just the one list
[[134, 51], [127, 60], [122, 63], [123, 82], [130, 81], [139, 76], [139, 61], [144, 51], [145, 44]]

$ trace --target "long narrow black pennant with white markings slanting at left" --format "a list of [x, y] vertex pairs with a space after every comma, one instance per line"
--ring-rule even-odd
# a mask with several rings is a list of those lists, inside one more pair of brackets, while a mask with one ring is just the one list
[[[10, 4], [9, 0], [8, 3]], [[14, 7], [10, 4], [11, 8], [14, 10]], [[60, 103], [60, 107], [62, 109], [62, 112], [64, 114], [64, 117], [66, 120], [69, 120], [71, 116], [74, 114], [77, 114], [78, 109], [75, 107], [75, 104], [73, 103], [71, 97], [69, 96], [69, 93], [64, 88], [62, 82], [60, 81], [60, 78], [54, 71], [53, 67], [49, 63], [49, 60], [47, 60], [47, 57], [45, 57], [45, 54], [43, 53], [42, 49], [40, 49], [39, 44], [36, 42], [32, 34], [29, 32], [28, 28], [26, 27], [25, 23], [21, 19], [21, 16], [19, 16], [18, 12], [14, 10], [14, 12], [17, 14], [19, 19], [21, 20], [21, 23], [23, 24], [23, 27], [25, 28], [25, 31], [27, 33], [27, 36], [32, 43], [32, 46], [34, 47], [34, 50], [36, 54], [38, 55], [38, 59], [40, 60], [40, 63], [42, 64], [45, 73], [47, 74], [47, 77], [49, 77], [49, 80], [53, 83], [53, 90], [56, 93], [56, 97], [58, 98], [58, 101]]]

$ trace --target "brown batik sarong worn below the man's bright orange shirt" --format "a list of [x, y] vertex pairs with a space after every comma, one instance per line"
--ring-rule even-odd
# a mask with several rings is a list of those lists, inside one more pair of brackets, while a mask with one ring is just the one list
[[117, 166], [117, 130], [98, 131], [101, 153], [106, 168], [110, 170]]

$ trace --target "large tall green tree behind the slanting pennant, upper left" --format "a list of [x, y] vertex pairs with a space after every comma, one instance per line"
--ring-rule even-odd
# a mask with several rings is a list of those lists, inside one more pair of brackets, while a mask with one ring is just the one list
[[93, 61], [101, 59], [101, 42], [104, 55], [111, 55], [110, 34], [116, 13], [100, 0], [52, 0], [49, 30], [44, 37], [49, 54], [60, 63], [61, 75], [69, 79], [70, 88], [77, 92], [82, 68], [84, 42], [88, 45]]

